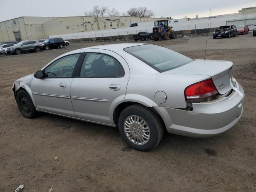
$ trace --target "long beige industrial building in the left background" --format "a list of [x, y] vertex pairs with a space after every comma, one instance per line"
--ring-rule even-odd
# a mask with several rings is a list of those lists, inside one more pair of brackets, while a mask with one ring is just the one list
[[0, 42], [41, 39], [51, 35], [127, 28], [132, 23], [159, 18], [113, 17], [20, 17], [0, 22]]

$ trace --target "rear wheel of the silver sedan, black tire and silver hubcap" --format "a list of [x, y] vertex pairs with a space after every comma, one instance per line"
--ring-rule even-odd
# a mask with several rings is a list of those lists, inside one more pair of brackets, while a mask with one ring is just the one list
[[160, 117], [141, 105], [125, 108], [119, 116], [118, 128], [126, 143], [140, 151], [154, 149], [162, 140], [164, 132]]

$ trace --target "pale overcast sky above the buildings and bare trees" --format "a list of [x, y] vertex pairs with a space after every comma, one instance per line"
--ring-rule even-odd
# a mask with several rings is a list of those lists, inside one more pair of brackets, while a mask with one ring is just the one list
[[[159, 2], [159, 4], [157, 4]], [[120, 14], [131, 7], [146, 6], [155, 17], [195, 18], [236, 13], [256, 6], [256, 0], [0, 0], [0, 22], [21, 16], [81, 16], [94, 5], [116, 8]]]

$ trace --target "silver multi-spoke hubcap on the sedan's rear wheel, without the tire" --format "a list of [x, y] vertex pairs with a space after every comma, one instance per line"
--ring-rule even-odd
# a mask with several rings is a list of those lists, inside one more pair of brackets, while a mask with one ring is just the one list
[[127, 138], [137, 145], [144, 145], [150, 139], [150, 129], [144, 119], [131, 115], [124, 120], [124, 133]]

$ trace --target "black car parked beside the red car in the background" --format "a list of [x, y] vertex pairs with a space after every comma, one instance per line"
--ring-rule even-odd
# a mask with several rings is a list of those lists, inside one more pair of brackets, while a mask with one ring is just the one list
[[230, 38], [231, 36], [236, 36], [236, 35], [237, 35], [237, 28], [234, 25], [220, 26], [212, 34], [214, 39], [216, 39], [217, 37]]

